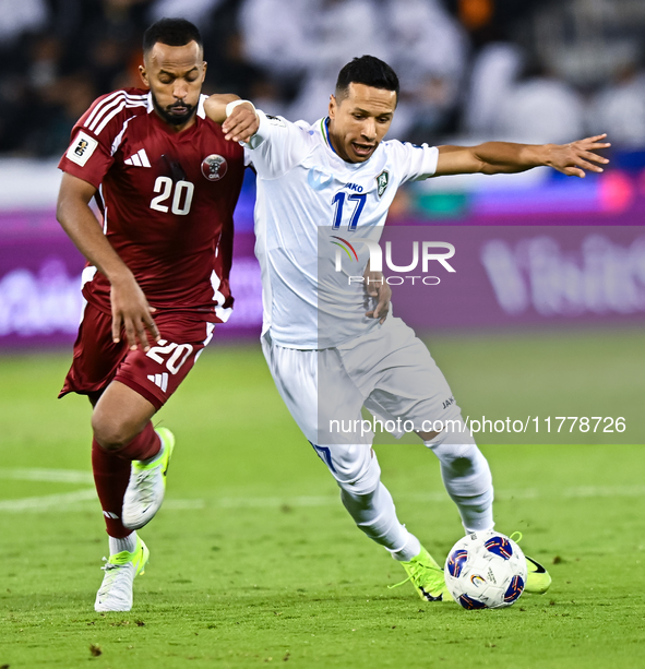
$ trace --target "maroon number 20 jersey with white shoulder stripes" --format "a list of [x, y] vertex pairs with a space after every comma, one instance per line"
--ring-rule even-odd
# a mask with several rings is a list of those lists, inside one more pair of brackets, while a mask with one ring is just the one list
[[[59, 167], [99, 189], [104, 231], [153, 307], [196, 309], [225, 322], [243, 151], [206, 118], [205, 98], [195, 123], [177, 133], [154, 111], [148, 92], [104, 95], [74, 127]], [[83, 295], [110, 312], [103, 274]]]

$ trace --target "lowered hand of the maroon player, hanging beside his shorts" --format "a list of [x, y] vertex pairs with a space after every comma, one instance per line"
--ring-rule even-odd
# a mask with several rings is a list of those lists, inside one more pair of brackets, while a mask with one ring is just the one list
[[136, 350], [139, 344], [143, 350], [150, 350], [146, 330], [155, 342], [160, 339], [159, 331], [152, 316], [156, 309], [147, 303], [134, 277], [112, 282], [110, 301], [114, 342], [121, 341], [121, 330], [126, 331], [130, 350]]

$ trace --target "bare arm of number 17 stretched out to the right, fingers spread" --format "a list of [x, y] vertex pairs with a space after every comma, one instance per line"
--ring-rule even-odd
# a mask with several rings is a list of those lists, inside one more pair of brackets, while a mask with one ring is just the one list
[[440, 146], [434, 176], [514, 174], [548, 166], [570, 177], [601, 172], [609, 160], [596, 152], [611, 146], [599, 134], [571, 144], [513, 144], [487, 142], [478, 146]]

